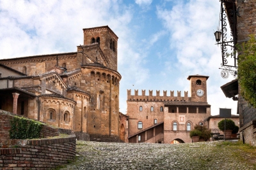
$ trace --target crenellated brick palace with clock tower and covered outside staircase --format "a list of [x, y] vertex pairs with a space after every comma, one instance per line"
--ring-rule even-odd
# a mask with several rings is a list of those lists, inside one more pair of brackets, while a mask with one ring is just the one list
[[156, 96], [149, 90], [149, 96], [138, 95], [138, 90], [131, 95], [127, 90], [127, 116], [129, 117], [128, 139], [130, 143], [189, 143], [189, 132], [196, 124], [207, 125], [211, 115], [211, 105], [207, 103], [207, 79], [209, 76], [191, 75], [190, 94], [188, 91], [156, 91]]

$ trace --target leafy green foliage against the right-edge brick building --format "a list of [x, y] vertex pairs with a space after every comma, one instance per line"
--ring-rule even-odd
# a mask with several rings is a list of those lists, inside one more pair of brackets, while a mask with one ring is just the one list
[[251, 34], [249, 41], [237, 45], [238, 55], [237, 75], [243, 98], [256, 107], [256, 39]]

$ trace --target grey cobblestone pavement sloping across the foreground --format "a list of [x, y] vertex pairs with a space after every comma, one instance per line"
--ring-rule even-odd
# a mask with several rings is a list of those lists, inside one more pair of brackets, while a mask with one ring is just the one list
[[216, 146], [220, 142], [167, 145], [77, 141], [77, 159], [63, 169], [247, 170], [255, 167], [234, 150]]

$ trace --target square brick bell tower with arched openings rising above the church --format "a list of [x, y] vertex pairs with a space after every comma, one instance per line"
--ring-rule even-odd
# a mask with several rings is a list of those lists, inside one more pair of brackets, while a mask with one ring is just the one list
[[83, 29], [84, 45], [99, 43], [100, 49], [108, 61], [107, 67], [117, 71], [117, 41], [118, 36], [108, 25]]

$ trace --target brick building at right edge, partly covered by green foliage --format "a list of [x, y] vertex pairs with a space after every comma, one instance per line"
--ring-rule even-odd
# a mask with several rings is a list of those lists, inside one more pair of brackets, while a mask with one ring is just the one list
[[[232, 5], [230, 4], [232, 3]], [[256, 0], [230, 1], [225, 2], [229, 25], [232, 35], [234, 35], [235, 43], [246, 43], [250, 34], [256, 34]], [[235, 23], [232, 22], [235, 18]], [[241, 53], [241, 52], [238, 52]], [[238, 63], [239, 65], [239, 63]], [[239, 114], [239, 132], [240, 138], [244, 143], [256, 146], [256, 109], [244, 101], [241, 96], [239, 81], [233, 80], [221, 86], [226, 97], [232, 98], [237, 102], [237, 114]]]

